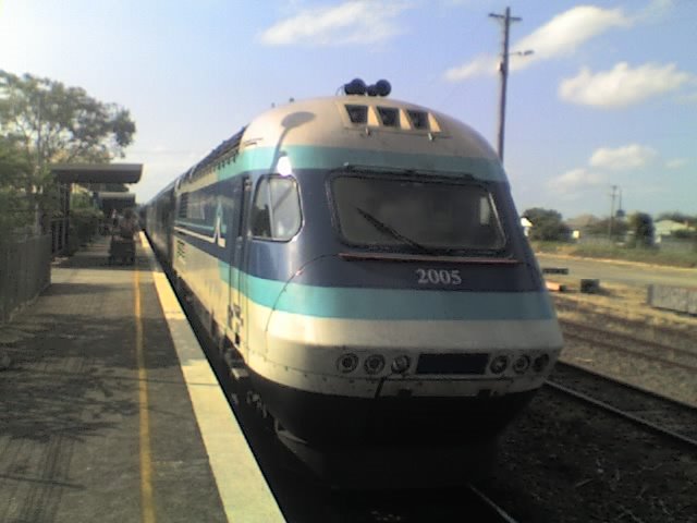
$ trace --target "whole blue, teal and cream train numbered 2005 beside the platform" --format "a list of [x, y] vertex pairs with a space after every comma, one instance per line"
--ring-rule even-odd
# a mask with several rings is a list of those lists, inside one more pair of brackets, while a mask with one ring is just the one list
[[466, 478], [563, 341], [496, 151], [389, 92], [267, 110], [145, 205], [145, 229], [316, 473]]

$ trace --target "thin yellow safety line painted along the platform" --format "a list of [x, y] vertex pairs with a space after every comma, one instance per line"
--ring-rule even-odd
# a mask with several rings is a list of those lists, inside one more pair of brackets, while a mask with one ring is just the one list
[[144, 523], [155, 523], [152, 501], [152, 460], [150, 455], [150, 417], [148, 413], [148, 373], [143, 354], [143, 318], [140, 316], [140, 276], [133, 271], [135, 289], [135, 350], [138, 361], [138, 403], [140, 408], [140, 514]]

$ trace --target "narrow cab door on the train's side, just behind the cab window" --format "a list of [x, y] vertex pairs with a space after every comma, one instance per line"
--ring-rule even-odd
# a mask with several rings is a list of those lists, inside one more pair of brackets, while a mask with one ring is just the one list
[[247, 352], [246, 339], [246, 215], [249, 207], [249, 193], [252, 182], [247, 177], [240, 177], [233, 181], [232, 198], [234, 212], [232, 231], [234, 239], [232, 245], [230, 269], [228, 275], [229, 289], [229, 324], [232, 327], [232, 340], [235, 348], [243, 355]]

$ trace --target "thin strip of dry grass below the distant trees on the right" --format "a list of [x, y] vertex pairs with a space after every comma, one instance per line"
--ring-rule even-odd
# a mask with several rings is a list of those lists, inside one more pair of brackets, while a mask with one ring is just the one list
[[536, 253], [565, 254], [586, 258], [640, 262], [671, 267], [697, 267], [697, 251], [692, 253], [664, 252], [658, 248], [628, 247], [620, 245], [579, 245], [559, 242], [533, 242]]

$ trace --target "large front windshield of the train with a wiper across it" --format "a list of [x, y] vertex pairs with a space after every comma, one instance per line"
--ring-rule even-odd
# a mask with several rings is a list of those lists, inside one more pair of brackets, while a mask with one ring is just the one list
[[473, 182], [342, 175], [332, 195], [344, 239], [416, 251], [497, 251], [505, 239], [489, 191]]

